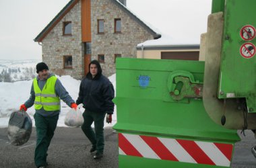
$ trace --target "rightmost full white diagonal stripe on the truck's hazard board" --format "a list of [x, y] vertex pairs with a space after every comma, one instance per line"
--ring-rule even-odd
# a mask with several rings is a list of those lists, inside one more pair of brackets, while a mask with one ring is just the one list
[[218, 166], [229, 166], [230, 161], [214, 143], [195, 141], [208, 157]]

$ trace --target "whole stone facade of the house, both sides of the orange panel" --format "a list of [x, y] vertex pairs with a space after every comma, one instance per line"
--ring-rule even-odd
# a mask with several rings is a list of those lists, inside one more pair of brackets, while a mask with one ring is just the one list
[[[115, 18], [121, 18], [121, 33], [115, 33]], [[104, 19], [104, 34], [98, 34], [98, 19]], [[63, 36], [63, 22], [71, 22], [71, 36]], [[84, 44], [81, 34], [81, 1], [79, 1], [42, 40], [42, 60], [57, 75], [84, 77]], [[136, 57], [137, 44], [154, 39], [136, 19], [113, 0], [91, 0], [91, 60], [104, 54], [103, 74], [115, 73], [115, 54]], [[64, 68], [64, 56], [72, 56], [72, 69]]]

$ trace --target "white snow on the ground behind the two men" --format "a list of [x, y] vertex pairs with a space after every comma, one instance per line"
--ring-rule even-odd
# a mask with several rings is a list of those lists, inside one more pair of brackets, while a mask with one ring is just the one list
[[[35, 67], [36, 64], [34, 64]], [[17, 65], [16, 65], [17, 66]], [[58, 76], [57, 76], [58, 77]], [[116, 88], [115, 74], [110, 76], [109, 79]], [[79, 92], [79, 80], [73, 79], [70, 76], [58, 77], [65, 89], [69, 92], [69, 95], [76, 100]], [[3, 83], [0, 82], [0, 127], [7, 127], [9, 122], [9, 116], [11, 112], [19, 110], [20, 105], [24, 103], [30, 97], [30, 89], [32, 86], [32, 80], [30, 81], [16, 81], [14, 83]], [[80, 105], [81, 106], [81, 105]], [[65, 114], [69, 112], [70, 108], [63, 101], [61, 101], [61, 114], [59, 116], [59, 121], [57, 126], [65, 126], [64, 119]], [[84, 108], [80, 108], [84, 112]], [[34, 126], [34, 106], [28, 109], [28, 114], [30, 115], [33, 126]], [[113, 114], [112, 124], [107, 124], [105, 122], [104, 127], [113, 126], [117, 122], [117, 110]]]

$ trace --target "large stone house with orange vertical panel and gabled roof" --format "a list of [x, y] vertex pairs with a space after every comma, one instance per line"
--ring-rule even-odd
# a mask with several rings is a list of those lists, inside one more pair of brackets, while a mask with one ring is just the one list
[[36, 36], [42, 61], [57, 75], [82, 79], [90, 60], [98, 60], [103, 74], [115, 73], [117, 57], [136, 58], [137, 44], [160, 38], [127, 9], [126, 1], [71, 0]]

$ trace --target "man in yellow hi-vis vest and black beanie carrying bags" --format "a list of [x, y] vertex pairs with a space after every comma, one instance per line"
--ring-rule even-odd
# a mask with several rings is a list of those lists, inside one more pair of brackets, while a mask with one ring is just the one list
[[44, 62], [36, 65], [38, 77], [34, 78], [30, 98], [20, 106], [20, 110], [27, 110], [34, 104], [36, 113], [36, 149], [34, 162], [36, 167], [46, 167], [46, 157], [51, 139], [59, 119], [62, 99], [67, 105], [76, 110], [77, 105]]

